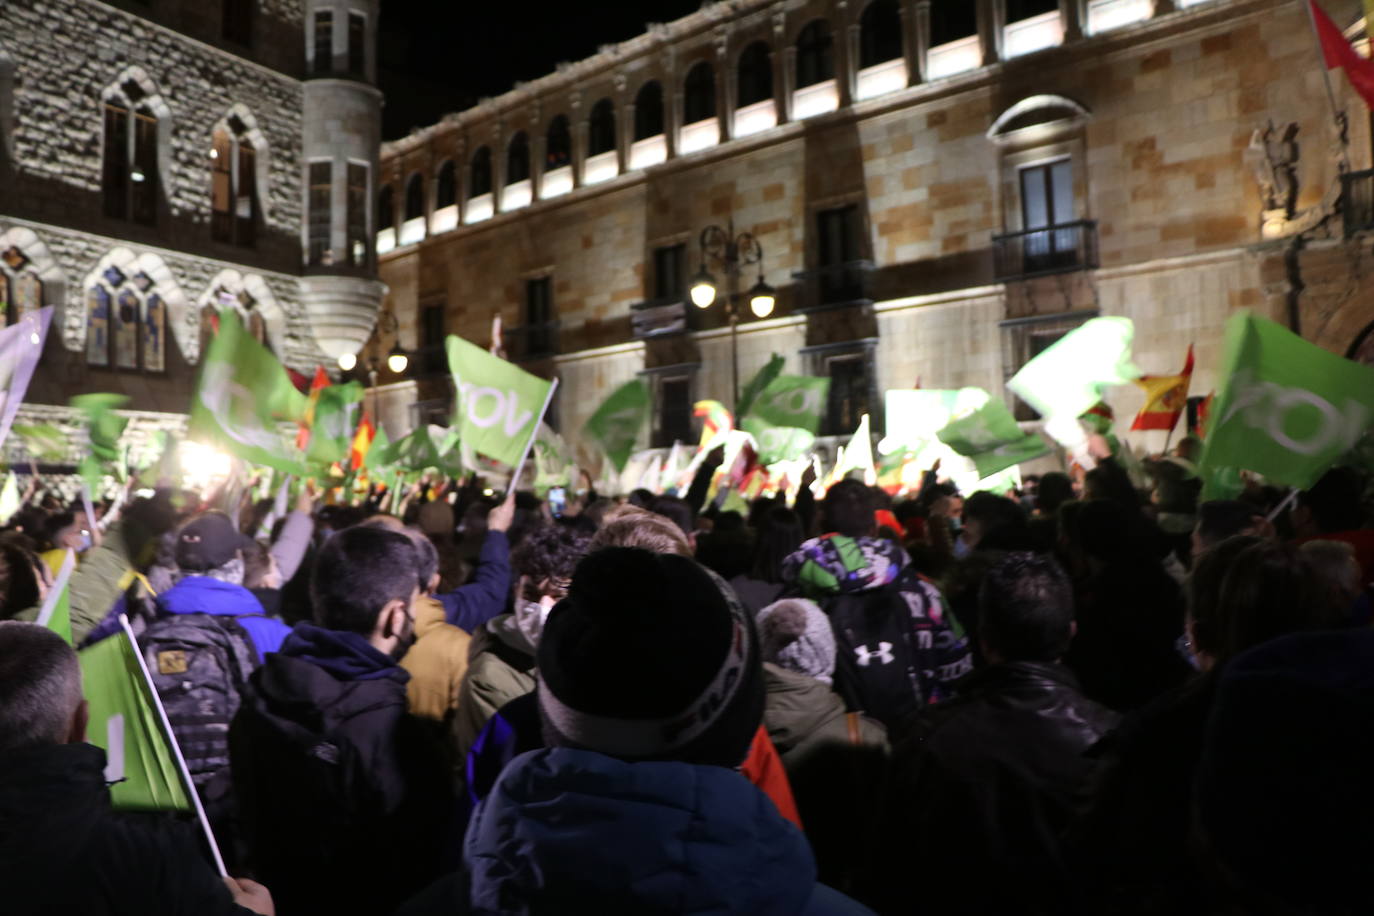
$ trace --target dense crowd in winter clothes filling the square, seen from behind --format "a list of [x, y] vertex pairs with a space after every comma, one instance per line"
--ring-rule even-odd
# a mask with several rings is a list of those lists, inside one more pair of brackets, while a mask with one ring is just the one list
[[[747, 512], [396, 514], [36, 486], [0, 534], [7, 913], [1374, 912], [1371, 481], [1132, 477]], [[214, 508], [218, 505], [220, 508]], [[232, 878], [111, 810], [76, 647], [129, 622]]]

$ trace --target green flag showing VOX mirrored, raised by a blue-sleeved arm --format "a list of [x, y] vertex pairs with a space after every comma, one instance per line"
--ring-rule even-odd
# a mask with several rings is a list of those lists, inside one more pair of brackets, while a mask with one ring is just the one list
[[552, 382], [530, 375], [506, 360], [448, 338], [448, 368], [458, 390], [453, 428], [463, 445], [511, 467], [519, 464], [544, 419]]

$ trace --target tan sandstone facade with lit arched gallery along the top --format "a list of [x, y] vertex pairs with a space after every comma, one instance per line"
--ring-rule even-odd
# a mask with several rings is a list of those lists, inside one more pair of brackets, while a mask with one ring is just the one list
[[[1359, 3], [1323, 5], [1364, 37]], [[383, 146], [396, 332], [368, 347], [418, 354], [385, 422], [442, 417], [442, 336], [500, 314], [565, 430], [643, 376], [644, 444], [687, 438], [732, 393], [724, 302], [686, 295], [709, 225], [757, 240], [741, 290], [778, 290], [736, 304], [739, 376], [830, 375], [831, 434], [881, 424], [886, 389], [1004, 393], [1095, 314], [1135, 320], [1146, 372], [1194, 343], [1194, 394], [1239, 308], [1374, 358], [1370, 118], [1330, 78], [1340, 130], [1305, 0], [706, 5]]]

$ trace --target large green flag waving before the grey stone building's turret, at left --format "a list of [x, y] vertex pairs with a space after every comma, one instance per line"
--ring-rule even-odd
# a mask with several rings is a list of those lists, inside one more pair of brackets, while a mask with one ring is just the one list
[[305, 396], [271, 350], [243, 330], [234, 309], [220, 312], [220, 330], [202, 363], [190, 438], [206, 438], [250, 464], [306, 477], [300, 453], [278, 428], [300, 422]]

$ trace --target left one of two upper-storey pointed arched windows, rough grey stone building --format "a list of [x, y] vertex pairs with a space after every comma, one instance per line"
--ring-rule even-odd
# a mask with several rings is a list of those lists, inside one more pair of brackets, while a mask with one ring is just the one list
[[104, 214], [153, 225], [158, 199], [158, 115], [132, 78], [106, 93], [102, 158]]

